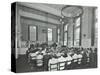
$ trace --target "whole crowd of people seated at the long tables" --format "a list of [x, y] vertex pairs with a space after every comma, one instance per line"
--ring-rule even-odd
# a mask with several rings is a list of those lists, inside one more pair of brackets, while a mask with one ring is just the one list
[[69, 48], [56, 43], [31, 44], [26, 51], [29, 63], [49, 71], [96, 66], [96, 55], [97, 48]]

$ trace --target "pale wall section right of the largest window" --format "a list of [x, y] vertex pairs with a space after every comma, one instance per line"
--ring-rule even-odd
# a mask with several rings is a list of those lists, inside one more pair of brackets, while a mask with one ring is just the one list
[[[91, 47], [91, 44], [94, 41], [94, 13], [92, 7], [84, 7], [84, 14], [82, 16], [82, 46]], [[92, 37], [93, 35], [93, 37]], [[93, 39], [91, 41], [91, 39]]]

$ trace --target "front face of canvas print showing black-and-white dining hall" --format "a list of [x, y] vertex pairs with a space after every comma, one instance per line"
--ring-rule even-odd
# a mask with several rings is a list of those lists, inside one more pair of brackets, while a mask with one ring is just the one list
[[16, 72], [96, 68], [97, 30], [96, 7], [17, 2]]

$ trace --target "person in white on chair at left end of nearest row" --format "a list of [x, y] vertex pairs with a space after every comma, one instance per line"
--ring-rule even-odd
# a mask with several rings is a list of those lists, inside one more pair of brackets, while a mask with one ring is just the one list
[[[52, 65], [53, 64], [53, 65]], [[55, 58], [54, 56], [51, 57], [51, 59], [49, 59], [49, 62], [48, 62], [48, 70], [49, 71], [57, 71], [58, 70], [58, 60], [57, 58]]]

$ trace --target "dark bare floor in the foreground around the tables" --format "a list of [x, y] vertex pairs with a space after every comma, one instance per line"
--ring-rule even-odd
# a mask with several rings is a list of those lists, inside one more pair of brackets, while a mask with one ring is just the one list
[[[47, 65], [45, 63], [45, 65]], [[71, 69], [87, 69], [87, 68], [96, 68], [95, 67], [87, 67], [85, 65], [78, 67], [78, 68], [71, 68]], [[17, 73], [22, 73], [22, 72], [40, 72], [40, 71], [48, 71], [47, 66], [43, 67], [36, 67], [36, 65], [29, 64], [27, 62], [27, 58], [25, 55], [19, 56], [19, 58], [16, 60], [16, 72]]]

